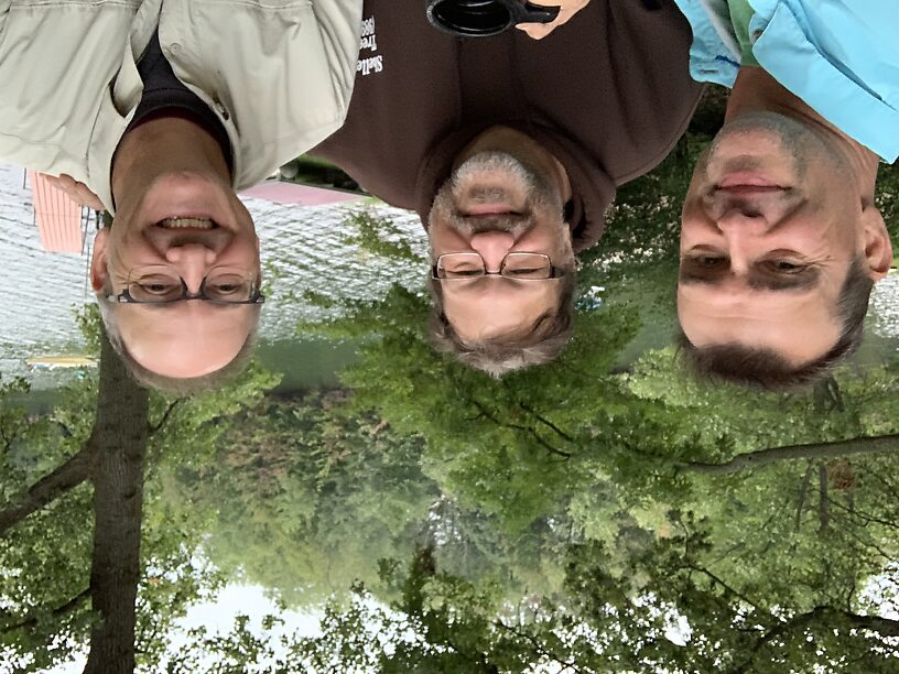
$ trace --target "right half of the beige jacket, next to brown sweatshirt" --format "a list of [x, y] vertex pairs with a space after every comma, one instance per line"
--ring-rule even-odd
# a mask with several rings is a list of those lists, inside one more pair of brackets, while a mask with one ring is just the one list
[[[264, 180], [343, 123], [355, 83], [361, 13], [361, 0], [163, 4], [163, 53], [178, 79], [227, 129], [237, 186]], [[172, 51], [175, 42], [180, 48]]]

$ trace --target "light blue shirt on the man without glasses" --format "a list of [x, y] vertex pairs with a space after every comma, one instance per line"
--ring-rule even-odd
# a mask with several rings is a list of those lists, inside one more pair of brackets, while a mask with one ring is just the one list
[[[675, 0], [693, 29], [690, 73], [733, 87], [740, 67], [725, 0]], [[749, 0], [759, 65], [844, 133], [899, 156], [899, 1]]]

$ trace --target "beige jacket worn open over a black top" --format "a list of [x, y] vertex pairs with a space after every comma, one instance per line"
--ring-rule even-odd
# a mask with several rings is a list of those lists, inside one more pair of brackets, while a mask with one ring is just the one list
[[112, 154], [159, 26], [175, 75], [218, 116], [234, 184], [254, 185], [336, 130], [361, 0], [0, 0], [0, 162], [67, 173], [112, 205]]

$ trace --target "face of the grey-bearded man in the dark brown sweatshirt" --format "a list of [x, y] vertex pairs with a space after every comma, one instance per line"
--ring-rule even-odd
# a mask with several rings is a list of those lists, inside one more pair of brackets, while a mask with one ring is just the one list
[[[458, 166], [434, 198], [429, 238], [434, 260], [445, 253], [479, 253], [498, 272], [510, 252], [572, 261], [562, 199], [549, 181], [503, 152], [480, 152]], [[486, 275], [442, 284], [444, 313], [466, 341], [515, 338], [557, 311], [560, 284]]]

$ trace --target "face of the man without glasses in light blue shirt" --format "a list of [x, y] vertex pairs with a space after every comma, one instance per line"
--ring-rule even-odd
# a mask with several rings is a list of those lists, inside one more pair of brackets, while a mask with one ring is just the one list
[[864, 253], [860, 188], [826, 134], [763, 112], [725, 126], [683, 207], [678, 315], [696, 347], [739, 344], [800, 367], [837, 341]]

